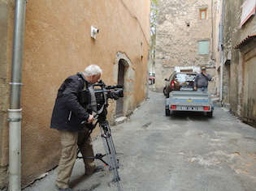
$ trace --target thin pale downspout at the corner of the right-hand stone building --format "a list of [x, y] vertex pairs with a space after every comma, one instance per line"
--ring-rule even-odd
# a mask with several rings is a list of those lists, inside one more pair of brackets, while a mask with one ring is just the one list
[[221, 43], [220, 43], [220, 90], [219, 90], [219, 101], [223, 105], [223, 66], [224, 66], [224, 45], [223, 45], [223, 36], [224, 36], [224, 15], [225, 15], [225, 0], [222, 2], [222, 12], [221, 12]]

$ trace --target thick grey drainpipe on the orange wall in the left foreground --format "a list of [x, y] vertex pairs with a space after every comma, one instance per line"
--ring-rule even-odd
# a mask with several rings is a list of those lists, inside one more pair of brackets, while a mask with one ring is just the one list
[[11, 71], [11, 108], [8, 109], [9, 121], [9, 189], [21, 190], [21, 73], [24, 49], [24, 23], [26, 0], [15, 2], [15, 26], [13, 37], [13, 56]]

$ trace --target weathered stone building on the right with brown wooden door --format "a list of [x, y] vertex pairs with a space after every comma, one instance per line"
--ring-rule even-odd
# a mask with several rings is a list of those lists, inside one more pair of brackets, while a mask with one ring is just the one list
[[[243, 121], [256, 124], [255, 0], [222, 0], [223, 30], [219, 41], [220, 98]], [[222, 32], [223, 31], [223, 32]]]

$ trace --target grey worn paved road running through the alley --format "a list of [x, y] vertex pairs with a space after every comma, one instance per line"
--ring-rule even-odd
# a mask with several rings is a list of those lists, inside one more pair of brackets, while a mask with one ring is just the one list
[[[256, 190], [256, 129], [224, 108], [215, 108], [212, 118], [194, 112], [166, 117], [164, 108], [163, 94], [150, 92], [128, 121], [112, 128], [122, 191]], [[104, 153], [101, 138], [93, 146]], [[55, 177], [56, 169], [24, 191], [54, 190]], [[107, 167], [85, 176], [77, 159], [71, 187], [117, 190], [112, 178]]]

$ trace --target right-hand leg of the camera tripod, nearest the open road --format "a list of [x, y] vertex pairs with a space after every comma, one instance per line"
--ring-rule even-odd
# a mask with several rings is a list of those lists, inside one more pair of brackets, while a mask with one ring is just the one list
[[114, 181], [118, 187], [118, 190], [120, 191], [120, 185], [119, 185], [119, 173], [117, 171], [117, 168], [119, 168], [118, 160], [116, 159], [116, 153], [115, 153], [115, 146], [113, 139], [111, 137], [111, 129], [108, 125], [107, 121], [104, 121], [104, 123], [100, 124], [101, 126], [101, 132], [102, 132], [102, 140], [104, 144], [104, 148], [106, 151], [106, 156], [108, 158], [109, 163], [109, 169], [112, 171], [114, 176]]

